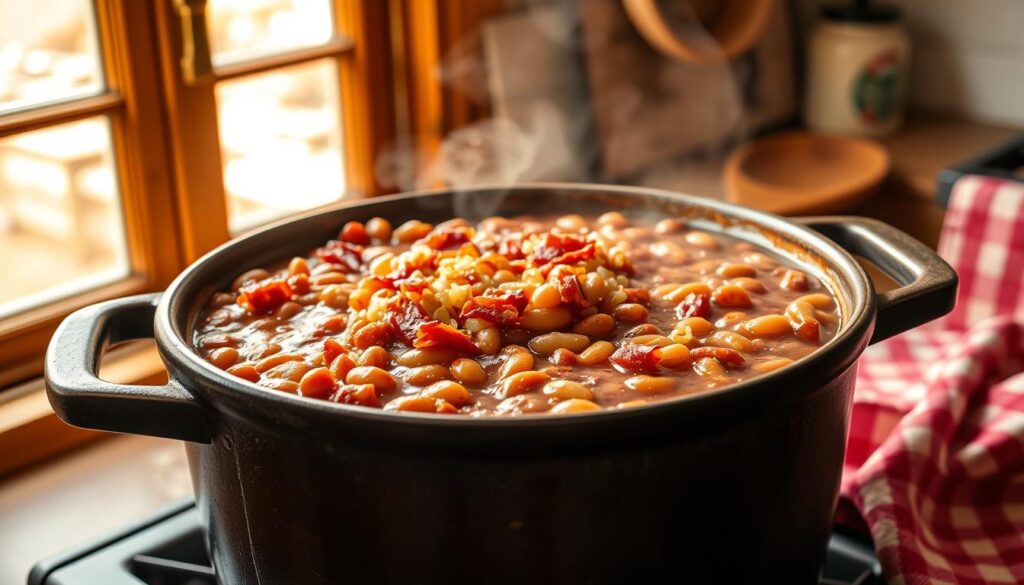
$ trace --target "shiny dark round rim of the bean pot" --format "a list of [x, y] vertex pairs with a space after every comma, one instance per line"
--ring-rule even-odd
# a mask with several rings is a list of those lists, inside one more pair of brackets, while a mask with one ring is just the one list
[[[806, 248], [808, 255], [824, 259], [827, 262], [828, 268], [835, 275], [831, 279], [833, 286], [830, 287], [833, 289], [830, 292], [834, 295], [846, 294], [843, 290], [836, 290], [839, 289], [840, 279], [845, 278], [846, 282], [849, 283], [850, 290], [847, 296], [851, 297], [849, 304], [852, 307], [852, 311], [850, 311], [849, 316], [843, 316], [840, 330], [831, 339], [810, 354], [797, 360], [793, 365], [785, 368], [707, 392], [676, 396], [629, 409], [606, 409], [599, 412], [562, 414], [558, 416], [550, 416], [547, 413], [542, 413], [517, 416], [473, 417], [438, 415], [434, 413], [390, 412], [382, 409], [337, 404], [288, 392], [272, 391], [253, 382], [231, 376], [202, 359], [194, 349], [190, 340], [195, 326], [195, 315], [186, 320], [184, 327], [178, 327], [175, 323], [172, 307], [180, 306], [188, 310], [193, 310], [194, 308], [191, 304], [182, 304], [179, 302], [180, 299], [178, 296], [182, 294], [182, 289], [191, 286], [196, 280], [199, 280], [200, 283], [210, 282], [212, 279], [204, 273], [212, 260], [223, 254], [229, 254], [231, 250], [243, 246], [245, 243], [273, 238], [272, 234], [283, 231], [285, 226], [292, 223], [325, 213], [336, 212], [341, 209], [357, 209], [377, 203], [442, 197], [445, 195], [478, 194], [492, 191], [536, 191], [549, 194], [557, 191], [569, 191], [592, 194], [594, 196], [604, 194], [647, 197], [665, 201], [666, 203], [679, 203], [687, 208], [711, 211], [716, 216], [728, 218], [728, 221], [731, 223], [767, 228], [769, 234], [781, 234], [793, 240], [793, 243], [800, 244]], [[792, 253], [790, 255], [792, 257]], [[807, 261], [805, 260], [806, 263]], [[822, 375], [827, 376], [824, 379], [827, 381], [846, 370], [860, 357], [860, 353], [867, 345], [867, 340], [873, 329], [876, 311], [877, 300], [873, 285], [863, 267], [849, 252], [817, 232], [787, 221], [777, 215], [718, 200], [705, 199], [665, 190], [631, 185], [538, 182], [425, 190], [365, 200], [344, 201], [336, 205], [318, 208], [272, 222], [258, 231], [232, 239], [218, 246], [182, 270], [168, 286], [160, 299], [156, 312], [155, 337], [160, 353], [168, 366], [168, 372], [172, 381], [178, 382], [189, 390], [193, 390], [197, 386], [212, 388], [219, 396], [225, 398], [229, 404], [246, 406], [244, 403], [247, 401], [254, 401], [249, 402], [248, 406], [274, 406], [283, 409], [284, 413], [294, 414], [299, 417], [323, 416], [332, 417], [336, 420], [349, 418], [366, 423], [381, 422], [388, 425], [425, 425], [435, 428], [484, 427], [489, 429], [512, 429], [558, 427], [566, 425], [569, 421], [573, 424], [600, 424], [609, 421], [620, 424], [627, 421], [645, 419], [655, 414], [663, 416], [667, 413], [684, 414], [690, 411], [714, 416], [716, 413], [723, 412], [719, 411], [721, 407], [734, 405], [737, 401], [745, 402], [748, 398], [753, 398], [754, 395], [766, 399], [768, 396], [796, 392], [801, 389], [813, 390], [823, 385]], [[195, 311], [193, 310], [193, 312]], [[189, 383], [195, 378], [199, 378], [205, 383]], [[788, 383], [785, 382], [786, 380], [788, 380]], [[206, 399], [207, 396], [201, 392], [201, 398]]]

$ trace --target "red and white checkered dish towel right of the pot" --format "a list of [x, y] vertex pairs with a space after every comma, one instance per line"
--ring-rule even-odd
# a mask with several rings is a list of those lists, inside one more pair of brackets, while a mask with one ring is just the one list
[[961, 179], [938, 323], [868, 348], [842, 495], [891, 584], [1024, 583], [1024, 185]]

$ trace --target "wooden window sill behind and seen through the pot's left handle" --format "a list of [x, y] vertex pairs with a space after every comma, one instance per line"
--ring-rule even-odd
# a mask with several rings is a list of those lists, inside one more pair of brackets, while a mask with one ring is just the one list
[[[167, 373], [156, 347], [132, 344], [112, 350], [100, 377], [112, 382], [162, 384]], [[0, 395], [0, 477], [5, 477], [111, 433], [65, 424], [53, 413], [42, 378], [9, 388]]]

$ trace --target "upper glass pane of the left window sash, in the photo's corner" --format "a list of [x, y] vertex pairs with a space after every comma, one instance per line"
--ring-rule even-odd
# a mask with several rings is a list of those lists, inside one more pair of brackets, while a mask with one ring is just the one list
[[98, 93], [92, 3], [0, 0], [0, 114]]

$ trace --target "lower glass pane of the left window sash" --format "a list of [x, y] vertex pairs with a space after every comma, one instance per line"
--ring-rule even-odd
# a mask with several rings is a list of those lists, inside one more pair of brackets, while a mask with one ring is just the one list
[[0, 318], [129, 274], [105, 117], [0, 140]]

